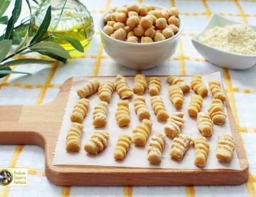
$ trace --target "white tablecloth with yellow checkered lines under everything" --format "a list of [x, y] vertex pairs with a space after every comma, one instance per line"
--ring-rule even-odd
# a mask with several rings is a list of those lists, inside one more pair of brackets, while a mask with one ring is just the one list
[[[53, 100], [62, 83], [78, 75], [135, 75], [115, 63], [103, 50], [97, 22], [111, 6], [130, 3], [127, 0], [81, 1], [91, 12], [95, 23], [95, 35], [84, 54], [75, 54], [66, 64], [24, 65], [13, 67], [15, 71], [29, 71], [33, 75], [13, 74], [0, 83], [0, 104], [44, 104]], [[12, 2], [13, 4], [14, 2]], [[195, 50], [191, 36], [199, 33], [212, 12], [241, 23], [256, 25], [256, 1], [174, 1], [148, 0], [164, 7], [176, 6], [184, 20], [184, 30], [177, 52], [157, 68], [143, 71], [145, 75], [194, 75], [220, 71], [243, 140], [250, 164], [249, 179], [236, 186], [157, 186], [157, 187], [60, 187], [45, 176], [44, 150], [36, 145], [0, 145], [0, 167], [25, 167], [29, 169], [28, 187], [1, 187], [4, 196], [250, 196], [255, 197], [256, 183], [256, 66], [249, 70], [236, 71], [219, 68], [205, 60]], [[24, 1], [25, 5], [25, 1]], [[26, 7], [26, 6], [24, 6]], [[12, 6], [7, 13], [11, 13]], [[23, 8], [22, 17], [28, 15]], [[0, 31], [4, 26], [0, 26]], [[33, 57], [32, 57], [33, 58]], [[200, 178], [200, 177], [199, 177]], [[202, 178], [203, 179], [203, 178]]]

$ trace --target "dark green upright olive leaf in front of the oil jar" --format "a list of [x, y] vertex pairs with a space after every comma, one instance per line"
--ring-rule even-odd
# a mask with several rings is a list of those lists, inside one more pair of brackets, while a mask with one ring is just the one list
[[50, 23], [51, 23], [51, 6], [48, 7], [48, 9], [46, 11], [45, 18], [44, 18], [44, 20], [42, 20], [42, 24], [36, 31], [35, 36], [30, 41], [30, 45], [39, 41], [40, 39], [42, 39], [45, 36], [45, 34], [47, 33], [47, 30], [50, 26]]

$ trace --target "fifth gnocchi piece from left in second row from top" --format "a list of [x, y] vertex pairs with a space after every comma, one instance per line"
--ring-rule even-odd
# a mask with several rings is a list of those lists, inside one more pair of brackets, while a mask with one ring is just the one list
[[166, 112], [162, 97], [160, 97], [160, 96], [151, 97], [151, 105], [157, 115], [158, 121], [164, 121], [169, 118], [169, 115]]

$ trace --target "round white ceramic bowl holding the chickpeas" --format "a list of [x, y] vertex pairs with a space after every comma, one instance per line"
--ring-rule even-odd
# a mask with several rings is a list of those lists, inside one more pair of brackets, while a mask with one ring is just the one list
[[[163, 9], [163, 7], [155, 6]], [[180, 19], [179, 32], [168, 39], [151, 43], [132, 43], [117, 40], [103, 32], [104, 16], [99, 20], [98, 28], [101, 41], [106, 53], [116, 62], [136, 70], [146, 70], [160, 65], [172, 56], [179, 43], [180, 33], [183, 30], [183, 21]]]

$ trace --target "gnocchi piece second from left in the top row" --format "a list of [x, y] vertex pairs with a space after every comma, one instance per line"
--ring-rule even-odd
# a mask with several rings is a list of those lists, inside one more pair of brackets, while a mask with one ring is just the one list
[[105, 80], [98, 89], [99, 99], [107, 103], [111, 102], [112, 94], [115, 91], [114, 82]]

